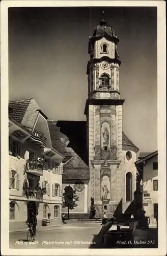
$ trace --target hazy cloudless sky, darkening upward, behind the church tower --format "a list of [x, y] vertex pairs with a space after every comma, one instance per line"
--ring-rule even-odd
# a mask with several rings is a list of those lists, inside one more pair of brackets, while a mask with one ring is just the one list
[[155, 7], [9, 8], [9, 100], [34, 98], [49, 120], [86, 120], [88, 40], [102, 11], [120, 39], [123, 131], [156, 151]]

